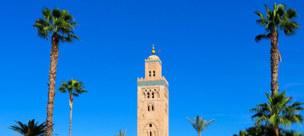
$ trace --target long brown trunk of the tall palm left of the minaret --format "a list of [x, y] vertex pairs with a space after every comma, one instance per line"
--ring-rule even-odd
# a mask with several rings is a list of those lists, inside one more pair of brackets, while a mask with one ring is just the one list
[[50, 63], [50, 74], [49, 74], [49, 92], [48, 92], [48, 104], [47, 104], [47, 123], [45, 136], [52, 136], [53, 130], [53, 108], [54, 108], [54, 97], [55, 97], [55, 80], [56, 70], [58, 63], [58, 35], [53, 34], [51, 37], [51, 63]]

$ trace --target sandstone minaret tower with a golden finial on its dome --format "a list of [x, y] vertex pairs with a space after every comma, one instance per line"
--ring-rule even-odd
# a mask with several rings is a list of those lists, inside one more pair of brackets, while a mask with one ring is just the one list
[[137, 136], [169, 136], [169, 84], [154, 53], [153, 44], [145, 78], [137, 78]]

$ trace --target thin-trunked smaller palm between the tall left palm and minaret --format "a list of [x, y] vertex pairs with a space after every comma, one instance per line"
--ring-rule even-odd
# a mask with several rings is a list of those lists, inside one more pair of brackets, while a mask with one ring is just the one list
[[58, 88], [58, 90], [61, 93], [67, 93], [69, 94], [69, 135], [71, 136], [72, 133], [72, 109], [73, 109], [73, 97], [78, 97], [80, 94], [87, 92], [83, 86], [84, 84], [82, 82], [79, 82], [77, 80], [69, 80], [68, 82], [61, 82], [61, 86]]

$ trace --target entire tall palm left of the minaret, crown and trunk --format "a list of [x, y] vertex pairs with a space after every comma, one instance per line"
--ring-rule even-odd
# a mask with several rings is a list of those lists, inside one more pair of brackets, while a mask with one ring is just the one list
[[51, 34], [51, 63], [49, 70], [49, 92], [47, 104], [47, 128], [46, 136], [51, 136], [53, 130], [53, 103], [55, 97], [55, 80], [58, 61], [59, 42], [72, 43], [74, 40], [80, 40], [73, 32], [74, 26], [77, 25], [74, 18], [67, 10], [58, 8], [43, 8], [42, 18], [35, 20], [34, 28], [38, 30], [38, 37], [49, 39]]

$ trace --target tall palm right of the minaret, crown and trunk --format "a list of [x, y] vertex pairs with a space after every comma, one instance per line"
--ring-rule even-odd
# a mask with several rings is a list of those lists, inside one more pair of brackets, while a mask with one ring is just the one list
[[281, 55], [278, 49], [278, 30], [283, 30], [284, 34], [291, 36], [296, 34], [296, 31], [301, 26], [295, 21], [298, 17], [298, 12], [292, 8], [287, 9], [284, 4], [276, 5], [274, 3], [273, 10], [266, 7], [266, 17], [261, 12], [254, 13], [260, 17], [256, 23], [265, 27], [265, 33], [255, 36], [255, 41], [259, 42], [263, 39], [270, 39], [270, 67], [271, 67], [271, 93], [278, 91], [278, 69]]

